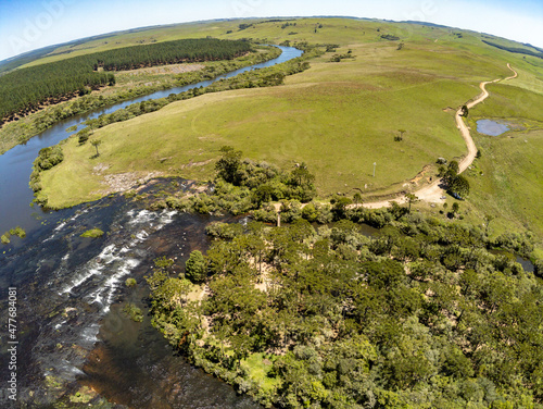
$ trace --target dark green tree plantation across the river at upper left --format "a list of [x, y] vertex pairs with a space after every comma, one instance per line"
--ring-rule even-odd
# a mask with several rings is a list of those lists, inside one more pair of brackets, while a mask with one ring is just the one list
[[159, 64], [230, 60], [251, 51], [251, 44], [214, 38], [184, 39], [124, 47], [0, 76], [0, 125], [93, 89], [115, 84], [106, 71], [132, 70]]

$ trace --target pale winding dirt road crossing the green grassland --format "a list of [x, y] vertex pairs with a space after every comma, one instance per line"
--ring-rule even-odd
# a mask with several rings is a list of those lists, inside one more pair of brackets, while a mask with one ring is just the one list
[[[504, 79], [494, 79], [494, 80], [487, 80], [487, 82], [481, 83], [479, 85], [479, 87], [481, 88], [482, 92], [473, 101], [466, 103], [466, 106], [468, 107], [468, 110], [473, 108], [478, 103], [481, 103], [487, 98], [489, 98], [489, 91], [487, 91], [488, 84], [494, 84], [494, 83], [498, 83], [501, 80], [513, 79], [513, 78], [516, 78], [518, 76], [517, 72], [512, 69], [510, 64], [507, 64], [507, 67], [510, 71], [513, 71], [515, 73], [515, 75], [507, 77], [507, 78], [504, 78]], [[473, 138], [471, 138], [471, 135], [469, 133], [469, 128], [466, 125], [466, 123], [464, 122], [464, 119], [462, 116], [462, 108], [456, 112], [455, 119], [456, 119], [456, 126], [460, 131], [462, 137], [464, 138], [464, 140], [466, 141], [466, 146], [468, 147], [468, 154], [458, 163], [459, 173], [462, 173], [466, 169], [468, 169], [471, 165], [471, 163], [473, 163], [473, 160], [477, 156], [477, 147], [473, 142]], [[438, 181], [433, 182], [432, 184], [414, 191], [413, 194], [419, 200], [422, 200], [422, 201], [427, 201], [427, 202], [431, 202], [431, 203], [443, 202], [444, 200], [442, 200], [441, 197], [445, 194], [445, 191], [440, 187], [440, 183], [441, 183], [441, 179], [438, 179]], [[368, 203], [363, 203], [362, 206], [364, 206], [365, 208], [368, 208], [368, 209], [388, 208], [391, 206], [390, 205], [391, 201], [395, 201], [396, 203], [402, 205], [402, 203], [405, 203], [407, 201], [407, 199], [405, 198], [405, 196], [401, 196], [396, 199], [368, 202]], [[356, 207], [356, 205], [354, 205], [353, 207]]]

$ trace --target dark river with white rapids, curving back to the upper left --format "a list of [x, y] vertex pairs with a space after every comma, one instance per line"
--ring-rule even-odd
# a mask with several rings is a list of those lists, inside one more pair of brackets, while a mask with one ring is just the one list
[[[302, 51], [281, 47], [272, 61], [223, 75], [278, 64]], [[66, 138], [65, 129], [127, 107], [166, 97], [214, 80], [154, 92], [108, 109], [68, 119], [0, 157], [0, 232], [15, 225], [27, 231], [0, 251], [0, 408], [49, 407], [87, 385], [115, 407], [258, 408], [223, 382], [192, 368], [150, 325], [143, 276], [166, 255], [182, 270], [193, 249], [209, 246], [204, 228], [211, 216], [151, 212], [121, 196], [62, 211], [30, 208], [31, 162], [38, 151]], [[153, 194], [173, 181], [148, 187]], [[81, 238], [101, 228], [100, 238]], [[125, 280], [134, 277], [134, 288]], [[17, 402], [8, 399], [8, 287], [16, 288]], [[123, 312], [130, 301], [144, 312], [135, 323]], [[63, 395], [65, 395], [63, 397]], [[94, 397], [96, 402], [100, 396]], [[67, 400], [68, 401], [68, 400]], [[68, 401], [70, 402], [70, 401]]]

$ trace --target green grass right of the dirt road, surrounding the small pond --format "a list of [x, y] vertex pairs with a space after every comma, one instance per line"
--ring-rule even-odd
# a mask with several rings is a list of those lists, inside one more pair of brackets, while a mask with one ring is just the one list
[[[491, 227], [498, 235], [507, 231], [532, 231], [543, 238], [543, 94], [528, 92], [522, 75], [491, 85], [491, 97], [471, 111], [469, 124], [481, 159], [468, 172], [472, 185], [469, 207], [482, 219], [496, 218]], [[538, 90], [538, 88], [534, 88]], [[512, 124], [497, 136], [477, 133], [479, 119]]]

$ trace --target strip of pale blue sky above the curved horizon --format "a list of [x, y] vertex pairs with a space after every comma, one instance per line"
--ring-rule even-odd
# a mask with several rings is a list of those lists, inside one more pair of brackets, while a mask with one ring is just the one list
[[119, 29], [291, 15], [419, 20], [543, 47], [543, 0], [0, 0], [0, 60]]

